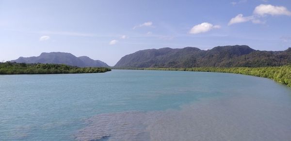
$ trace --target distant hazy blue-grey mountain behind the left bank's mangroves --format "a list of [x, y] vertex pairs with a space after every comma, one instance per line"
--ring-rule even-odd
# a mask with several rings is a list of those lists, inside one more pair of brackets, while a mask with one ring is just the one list
[[87, 56], [76, 57], [70, 53], [63, 52], [42, 53], [40, 56], [33, 57], [19, 57], [10, 62], [66, 64], [78, 67], [109, 67], [106, 63], [100, 60], [93, 60]]

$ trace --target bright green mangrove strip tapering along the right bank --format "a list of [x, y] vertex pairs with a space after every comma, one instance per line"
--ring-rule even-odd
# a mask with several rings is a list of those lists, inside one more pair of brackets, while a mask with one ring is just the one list
[[[118, 69], [120, 69], [120, 68], [118, 68]], [[273, 79], [278, 83], [291, 86], [291, 65], [281, 66], [281, 67], [259, 67], [259, 68], [201, 67], [201, 68], [123, 68], [123, 69], [127, 69], [127, 70], [205, 71], [205, 72], [238, 73], [238, 74], [266, 77], [266, 78]]]

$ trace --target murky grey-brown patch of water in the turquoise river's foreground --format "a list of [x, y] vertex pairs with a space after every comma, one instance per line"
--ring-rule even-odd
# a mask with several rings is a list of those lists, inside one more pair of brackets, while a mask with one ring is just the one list
[[291, 140], [291, 109], [247, 96], [203, 100], [181, 110], [99, 114], [86, 122], [75, 134], [78, 141]]

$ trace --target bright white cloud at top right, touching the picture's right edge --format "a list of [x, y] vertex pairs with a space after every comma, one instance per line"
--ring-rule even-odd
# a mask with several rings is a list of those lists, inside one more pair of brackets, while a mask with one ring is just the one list
[[266, 14], [271, 15], [291, 15], [291, 12], [284, 6], [273, 6], [270, 4], [260, 4], [254, 10], [254, 14], [264, 16]]

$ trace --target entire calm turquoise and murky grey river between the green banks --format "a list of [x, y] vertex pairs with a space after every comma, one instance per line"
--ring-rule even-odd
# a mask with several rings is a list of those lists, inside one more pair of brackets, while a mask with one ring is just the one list
[[0, 141], [291, 141], [291, 88], [188, 71], [0, 75]]

